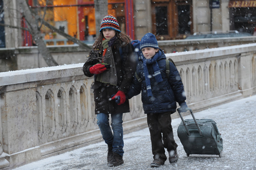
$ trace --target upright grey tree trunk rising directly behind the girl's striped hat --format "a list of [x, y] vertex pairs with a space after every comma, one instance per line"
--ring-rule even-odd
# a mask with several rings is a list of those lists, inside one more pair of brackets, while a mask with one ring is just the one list
[[100, 24], [102, 18], [108, 14], [108, 0], [94, 0], [96, 35], [99, 36]]

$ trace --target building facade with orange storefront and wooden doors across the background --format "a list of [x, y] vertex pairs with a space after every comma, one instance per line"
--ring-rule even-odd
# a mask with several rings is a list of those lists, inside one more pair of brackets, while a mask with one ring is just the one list
[[[56, 28], [86, 43], [94, 42], [98, 29], [93, 0], [48, 0], [47, 4], [46, 0], [28, 0], [28, 4]], [[15, 0], [0, 0], [0, 23], [26, 27], [15, 9]], [[183, 39], [205, 31], [253, 34], [256, 26], [256, 0], [108, 0], [108, 13], [131, 39], [140, 39], [147, 32], [158, 40]], [[33, 45], [27, 31], [3, 26], [0, 31], [1, 47]], [[41, 33], [47, 45], [73, 44], [47, 27], [41, 27]]]

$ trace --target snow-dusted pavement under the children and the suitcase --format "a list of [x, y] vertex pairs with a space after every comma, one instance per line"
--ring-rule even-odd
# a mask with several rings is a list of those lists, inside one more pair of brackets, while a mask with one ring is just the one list
[[[172, 120], [179, 160], [155, 168], [158, 170], [256, 170], [256, 95], [194, 113], [197, 119], [213, 119], [223, 138], [223, 156], [186, 156], [177, 136], [180, 118]], [[184, 119], [191, 119], [191, 115]], [[108, 167], [108, 147], [99, 142], [57, 156], [39, 160], [16, 170], [152, 170], [153, 161], [148, 128], [124, 135], [124, 165]], [[166, 155], [168, 155], [166, 151]]]

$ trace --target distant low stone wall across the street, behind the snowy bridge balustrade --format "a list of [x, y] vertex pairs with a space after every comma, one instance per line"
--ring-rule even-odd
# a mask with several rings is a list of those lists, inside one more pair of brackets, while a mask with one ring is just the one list
[[[143, 34], [144, 35], [144, 34]], [[256, 42], [256, 36], [158, 41], [165, 53], [227, 47]], [[88, 44], [92, 46], [92, 44]], [[47, 46], [58, 65], [84, 63], [89, 51], [78, 45]], [[0, 72], [47, 67], [37, 46], [0, 48]]]

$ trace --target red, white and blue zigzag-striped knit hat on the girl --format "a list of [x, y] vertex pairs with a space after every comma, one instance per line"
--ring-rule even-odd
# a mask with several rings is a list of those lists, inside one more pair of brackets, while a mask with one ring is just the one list
[[120, 31], [119, 29], [119, 24], [116, 20], [116, 18], [113, 16], [113, 15], [106, 15], [102, 21], [101, 21], [101, 26], [100, 26], [100, 31], [103, 30], [103, 29], [113, 29], [113, 30], [116, 30], [116, 31]]

